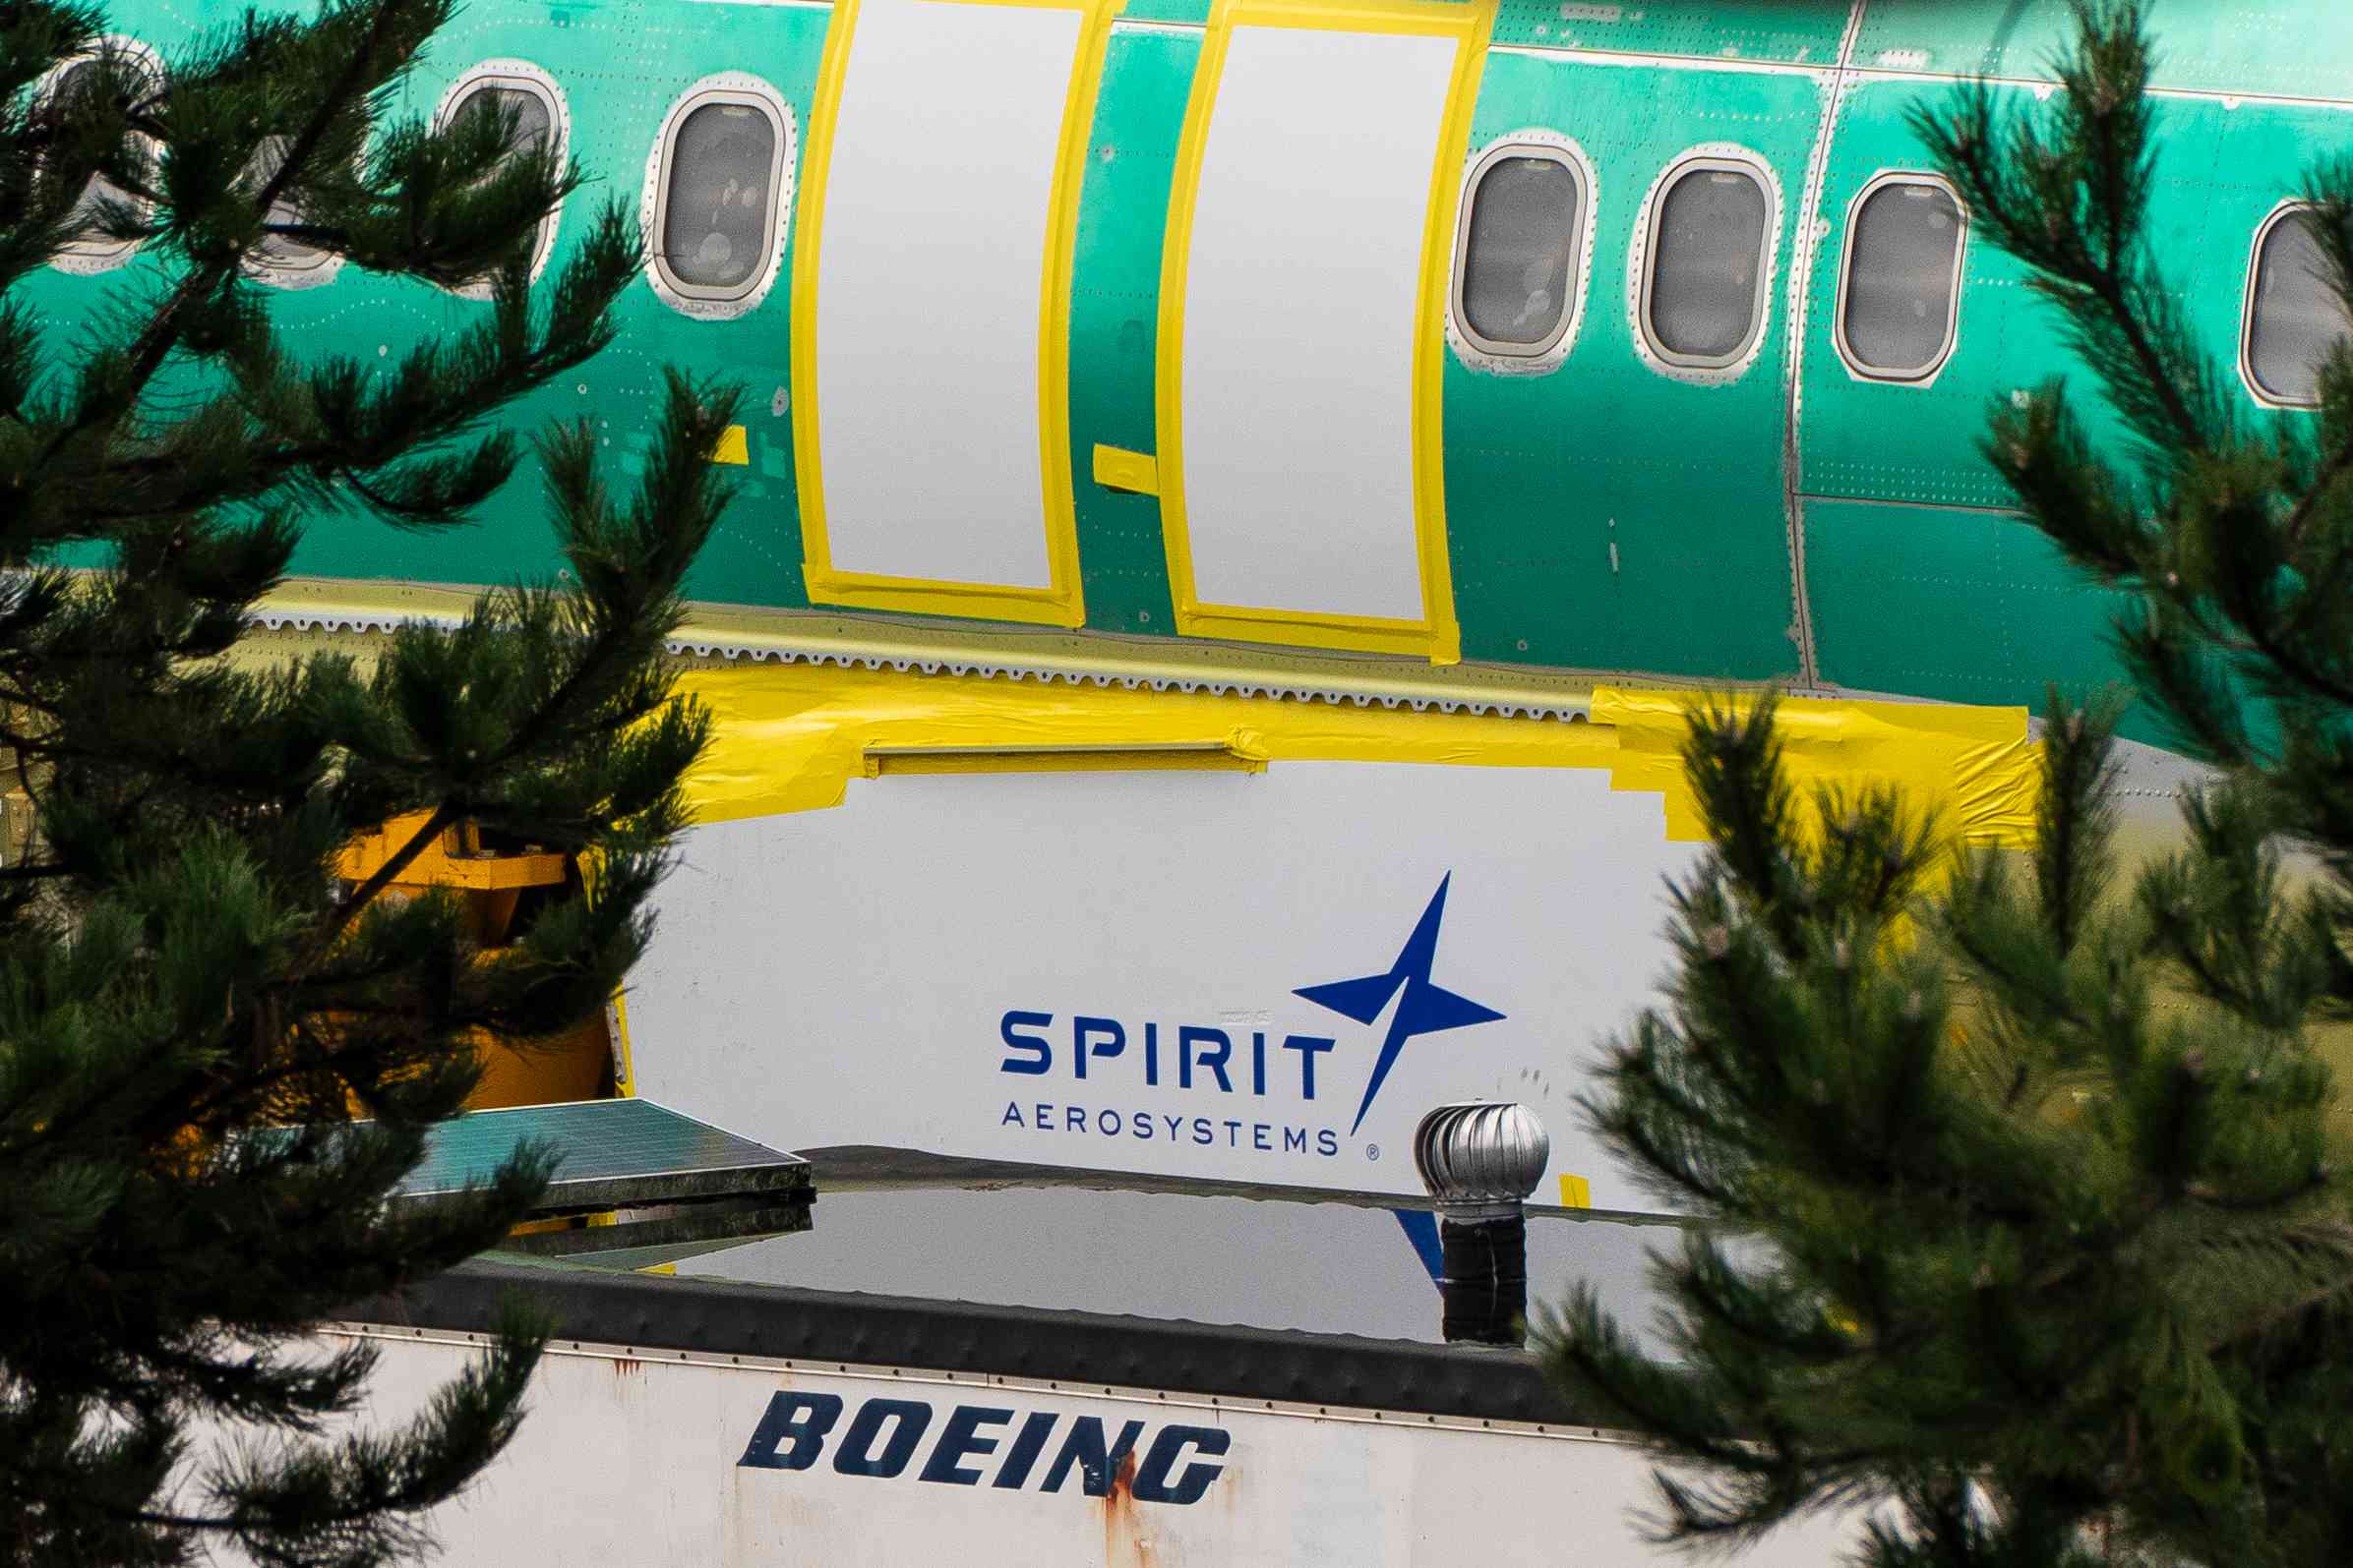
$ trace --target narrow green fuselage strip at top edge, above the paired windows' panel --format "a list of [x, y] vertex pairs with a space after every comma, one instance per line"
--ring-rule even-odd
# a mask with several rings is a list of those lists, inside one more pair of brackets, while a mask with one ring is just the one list
[[1562, 5], [1504, 0], [1494, 24], [1501, 45], [1689, 54], [1831, 66], [1847, 31], [1847, 0], [1715, 0], [1713, 5]]

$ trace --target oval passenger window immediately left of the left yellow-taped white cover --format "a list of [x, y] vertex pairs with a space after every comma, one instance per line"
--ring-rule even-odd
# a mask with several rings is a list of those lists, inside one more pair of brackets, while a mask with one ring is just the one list
[[776, 244], [776, 146], [767, 103], [708, 96], [673, 120], [654, 261], [687, 299], [744, 299]]

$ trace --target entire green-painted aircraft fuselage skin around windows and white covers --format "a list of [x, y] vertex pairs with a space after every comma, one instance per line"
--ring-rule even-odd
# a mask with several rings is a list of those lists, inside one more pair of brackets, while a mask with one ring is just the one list
[[[118, 0], [115, 26], [165, 52], [228, 0]], [[1835, 355], [1831, 324], [1847, 216], [1885, 169], [1918, 169], [1904, 125], [1953, 87], [1887, 71], [2033, 71], [2059, 38], [2061, 0], [1871, 0], [1821, 165], [1821, 242], [1800, 280], [1800, 482], [1819, 677], [1962, 701], [2033, 701], [2042, 682], [2108, 672], [2106, 604], [2021, 524], [1984, 508], [2005, 496], [1974, 442], [1991, 400], [2049, 374], [2085, 376], [2019, 270], [1972, 242], [1953, 357], [1927, 388], [1864, 383]], [[1160, 244], [1176, 139], [1200, 56], [1207, 0], [1136, 0], [1108, 49], [1089, 129], [1071, 301], [1071, 463], [1087, 625], [1172, 632], [1158, 503], [1092, 482], [1094, 444], [1158, 451], [1153, 376]], [[593, 183], [567, 205], [558, 261], [598, 197], [635, 209], [671, 103], [699, 78], [751, 68], [795, 118], [795, 155], [831, 12], [809, 5], [692, 0], [475, 0], [407, 87], [426, 113], [468, 66], [525, 59], [565, 89], [572, 150]], [[1640, 670], [1687, 679], [1798, 672], [1784, 451], [1793, 324], [1788, 268], [1821, 132], [1824, 75], [1845, 0], [1508, 0], [1478, 96], [1473, 155], [1515, 129], [1572, 136], [1598, 165], [1584, 313], [1565, 362], [1497, 376], [1445, 360], [1449, 559], [1464, 654], [1475, 661]], [[2162, 110], [2158, 233], [2209, 346], [2235, 362], [2247, 249], [2257, 223], [2320, 153], [2353, 143], [2344, 108], [2278, 96], [2353, 99], [2353, 31], [2337, 0], [2158, 0], [2167, 82], [2247, 94], [2172, 99]], [[1176, 26], [1169, 26], [1176, 24]], [[1605, 52], [1569, 59], [1555, 49]], [[1685, 56], [1659, 66], [1640, 54]], [[1732, 61], [1706, 68], [1706, 61]], [[1311, 92], [1313, 85], [1304, 85]], [[2014, 89], [2019, 92], [2019, 89]], [[2271, 94], [2266, 99], [2264, 94]], [[1732, 386], [1664, 376], [1638, 353], [1628, 242], [1652, 181], [1701, 143], [1762, 155], [1781, 186], [1767, 334]], [[795, 169], [798, 186], [798, 169]], [[661, 364], [746, 383], [751, 465], [694, 578], [727, 604], [798, 609], [800, 527], [788, 386], [788, 261], [755, 310], [689, 320], [652, 287], [631, 289], [621, 339], [584, 371], [515, 409], [522, 428], [591, 418], [626, 477], [647, 449]], [[59, 334], [122, 308], [153, 284], [132, 268], [47, 275], [24, 292]], [[953, 280], [936, 301], [953, 308]], [[301, 348], [388, 360], [424, 331], [482, 306], [424, 284], [346, 270], [278, 296]], [[1313, 353], [1313, 346], [1301, 346]], [[911, 369], [911, 374], [918, 374]], [[2085, 386], [2085, 390], [2089, 390]], [[2297, 414], [2252, 418], [2304, 418]], [[2111, 433], [2113, 435], [2113, 433]], [[920, 451], [920, 433], [908, 433]], [[1612, 562], [1612, 545], [1617, 559]], [[299, 569], [325, 576], [506, 581], [555, 567], [536, 477], [525, 468], [454, 536], [325, 517]]]

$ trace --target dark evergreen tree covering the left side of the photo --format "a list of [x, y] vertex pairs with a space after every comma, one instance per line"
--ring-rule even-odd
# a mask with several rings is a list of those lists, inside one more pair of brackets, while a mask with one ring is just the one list
[[[586, 428], [539, 440], [567, 585], [492, 592], [369, 668], [224, 658], [313, 517], [452, 529], [489, 498], [522, 447], [487, 421], [598, 353], [638, 277], [607, 207], [532, 287], [581, 174], [511, 110], [393, 115], [452, 9], [252, 14], [155, 73], [96, 9], [0, 5], [0, 745], [31, 809], [0, 865], [7, 1561], [412, 1554], [513, 1436], [539, 1354], [518, 1319], [409, 1425], [351, 1434], [327, 1425], [372, 1359], [301, 1335], [494, 1244], [544, 1187], [522, 1157], [386, 1204], [478, 1034], [576, 1025], [645, 947], [706, 738], [664, 637], [736, 395], [673, 378], [626, 491]], [[47, 263], [132, 240], [101, 313], [26, 303]], [[489, 299], [386, 362], [306, 353], [256, 284], [285, 247]], [[336, 879], [409, 813], [381, 870]], [[459, 823], [581, 856], [593, 891], [485, 959], [454, 903], [386, 893]]]

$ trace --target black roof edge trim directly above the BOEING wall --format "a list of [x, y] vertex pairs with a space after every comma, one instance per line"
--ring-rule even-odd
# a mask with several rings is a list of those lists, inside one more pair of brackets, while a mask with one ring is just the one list
[[[501, 1300], [511, 1295], [548, 1312], [555, 1338], [593, 1345], [1094, 1382], [1414, 1415], [1602, 1425], [1569, 1406], [1527, 1352], [701, 1276], [468, 1262], [400, 1293], [346, 1307], [336, 1319], [487, 1333]], [[1438, 1314], [1435, 1293], [1431, 1314]]]

